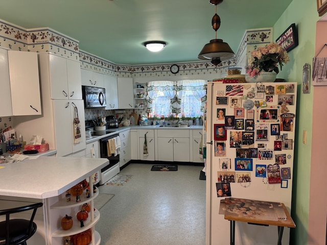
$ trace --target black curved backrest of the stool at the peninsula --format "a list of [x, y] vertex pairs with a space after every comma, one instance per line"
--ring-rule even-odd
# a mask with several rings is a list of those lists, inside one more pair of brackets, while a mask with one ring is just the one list
[[43, 203], [34, 203], [34, 204], [27, 205], [27, 206], [0, 210], [0, 216], [1, 215], [6, 215], [6, 244], [9, 244], [9, 220], [10, 220], [10, 214], [25, 212], [25, 211], [33, 209], [33, 213], [32, 213], [31, 218], [30, 218], [29, 229], [28, 229], [28, 233], [27, 233], [28, 235], [32, 235], [31, 233], [32, 233], [32, 228], [33, 228], [33, 220], [34, 220], [34, 217], [35, 217], [35, 214], [36, 214], [36, 210], [39, 207], [42, 207], [42, 206], [43, 206]]

